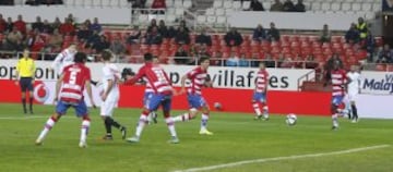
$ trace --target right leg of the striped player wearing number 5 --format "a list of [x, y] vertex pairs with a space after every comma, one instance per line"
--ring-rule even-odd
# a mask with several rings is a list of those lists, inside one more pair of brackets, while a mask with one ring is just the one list
[[73, 106], [73, 108], [75, 109], [76, 115], [82, 116], [81, 137], [80, 137], [79, 146], [81, 148], [85, 148], [87, 147], [86, 138], [91, 125], [91, 119], [88, 116], [87, 106], [84, 102], [84, 100], [81, 100], [76, 106]]

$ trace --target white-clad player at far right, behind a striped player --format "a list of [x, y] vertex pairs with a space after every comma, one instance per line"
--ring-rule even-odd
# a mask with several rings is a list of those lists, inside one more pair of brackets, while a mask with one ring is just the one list
[[361, 76], [358, 66], [352, 65], [350, 71], [346, 74], [346, 77], [348, 78], [347, 98], [350, 105], [349, 114], [352, 113], [352, 122], [356, 123], [358, 121], [356, 99], [360, 93], [361, 84]]

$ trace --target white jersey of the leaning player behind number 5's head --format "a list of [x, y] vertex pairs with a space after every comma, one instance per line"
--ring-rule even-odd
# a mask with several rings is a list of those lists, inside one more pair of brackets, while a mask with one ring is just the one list
[[72, 53], [69, 49], [62, 50], [51, 63], [51, 69], [56, 70], [58, 74], [61, 74], [64, 66], [73, 64], [74, 56], [75, 52]]

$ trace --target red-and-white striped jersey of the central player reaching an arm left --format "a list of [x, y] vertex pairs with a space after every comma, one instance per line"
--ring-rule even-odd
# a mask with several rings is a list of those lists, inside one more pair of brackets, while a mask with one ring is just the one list
[[138, 71], [138, 74], [131, 79], [124, 82], [124, 84], [135, 84], [139, 79], [143, 77], [145, 77], [145, 79], [147, 81], [146, 85], [152, 86], [152, 89], [155, 94], [172, 94], [171, 82], [167, 73], [164, 71], [163, 67], [151, 62], [145, 63]]

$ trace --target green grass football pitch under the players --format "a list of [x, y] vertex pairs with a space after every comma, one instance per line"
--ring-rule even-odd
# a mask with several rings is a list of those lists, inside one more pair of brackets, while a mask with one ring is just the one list
[[[251, 107], [250, 107], [251, 108]], [[23, 114], [20, 105], [0, 105], [1, 172], [392, 172], [393, 120], [341, 118], [331, 131], [330, 116], [298, 115], [295, 126], [285, 115], [253, 121], [252, 114], [212, 112], [213, 136], [199, 135], [200, 116], [176, 123], [180, 144], [168, 144], [169, 132], [147, 125], [138, 144], [102, 140], [105, 130], [98, 109], [92, 109], [88, 147], [79, 148], [81, 120], [73, 110], [48, 134], [43, 146], [34, 142], [52, 113], [52, 106], [35, 106]], [[182, 111], [174, 111], [179, 114]], [[117, 109], [115, 119], [132, 136], [139, 109]]]

